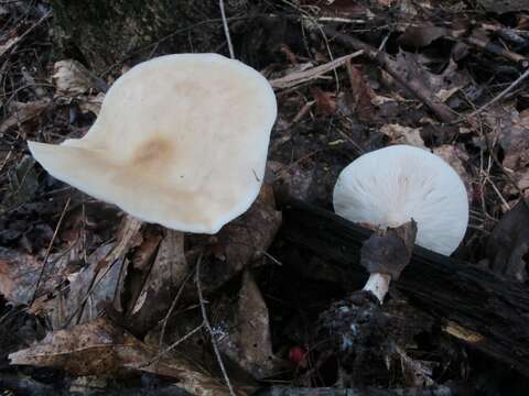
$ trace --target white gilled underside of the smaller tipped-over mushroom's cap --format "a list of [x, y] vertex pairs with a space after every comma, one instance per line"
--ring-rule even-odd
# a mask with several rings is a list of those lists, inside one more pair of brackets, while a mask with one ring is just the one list
[[439, 156], [395, 145], [367, 153], [339, 174], [334, 210], [357, 223], [398, 227], [417, 221], [415, 243], [450, 255], [468, 224], [466, 189]]

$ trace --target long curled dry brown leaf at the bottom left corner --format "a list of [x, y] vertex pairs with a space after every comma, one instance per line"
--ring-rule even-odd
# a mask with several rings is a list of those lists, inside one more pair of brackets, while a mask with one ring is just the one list
[[[28, 349], [11, 353], [11, 364], [53, 367], [75, 375], [121, 376], [145, 371], [179, 380], [193, 395], [226, 396], [227, 388], [175, 354], [142, 367], [155, 356], [154, 349], [104, 318], [68, 330], [48, 333]], [[239, 392], [239, 394], [241, 394]]]

